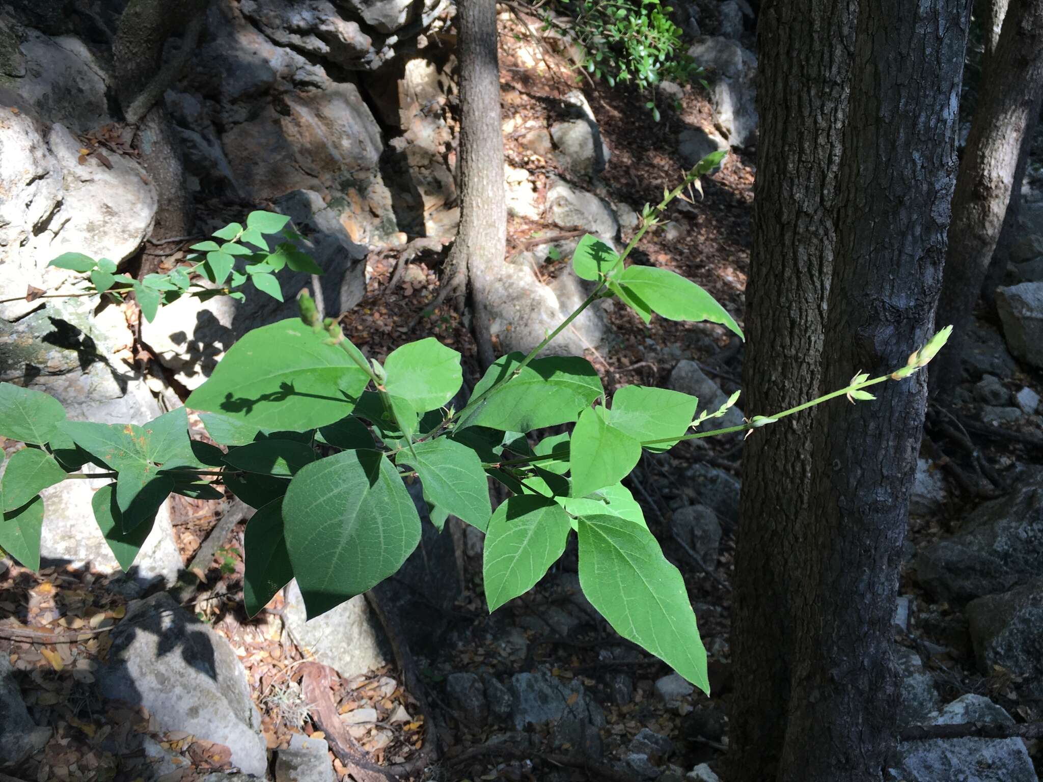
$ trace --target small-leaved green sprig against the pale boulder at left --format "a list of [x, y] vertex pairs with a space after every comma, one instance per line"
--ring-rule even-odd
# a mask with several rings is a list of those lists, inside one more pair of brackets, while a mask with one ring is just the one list
[[[80, 252], [66, 252], [48, 266], [81, 272], [84, 292], [104, 294], [121, 301], [134, 293], [145, 320], [151, 322], [163, 304], [181, 296], [203, 300], [231, 296], [242, 301], [240, 290], [247, 282], [272, 298], [283, 300], [275, 274], [289, 267], [292, 271], [321, 274], [322, 270], [298, 247], [305, 238], [287, 227], [290, 218], [271, 212], [251, 212], [246, 225], [229, 223], [208, 239], [193, 244], [188, 263], [165, 274], [146, 274], [138, 280], [117, 273], [116, 263], [107, 258], [93, 259]], [[269, 237], [266, 239], [265, 237]], [[274, 249], [269, 242], [274, 242]], [[209, 284], [209, 285], [208, 285]]]

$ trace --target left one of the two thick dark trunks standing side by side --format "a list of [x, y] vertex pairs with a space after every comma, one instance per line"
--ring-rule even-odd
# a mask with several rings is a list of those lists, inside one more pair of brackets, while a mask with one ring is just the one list
[[[819, 387], [855, 8], [854, 0], [773, 0], [761, 8], [743, 376], [752, 413], [793, 407]], [[742, 671], [729, 732], [735, 782], [771, 779], [782, 751], [787, 561], [812, 476], [807, 420], [758, 432], [743, 454], [731, 634]]]

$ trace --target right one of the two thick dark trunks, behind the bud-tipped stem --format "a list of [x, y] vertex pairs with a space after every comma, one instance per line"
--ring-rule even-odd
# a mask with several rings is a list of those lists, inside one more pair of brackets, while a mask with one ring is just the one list
[[[968, 10], [962, 0], [863, 0], [823, 349], [827, 388], [903, 366], [931, 331]], [[811, 434], [814, 512], [789, 563], [795, 653], [780, 782], [879, 782], [896, 740], [892, 622], [926, 381], [918, 372], [874, 391], [876, 401], [823, 407]]]

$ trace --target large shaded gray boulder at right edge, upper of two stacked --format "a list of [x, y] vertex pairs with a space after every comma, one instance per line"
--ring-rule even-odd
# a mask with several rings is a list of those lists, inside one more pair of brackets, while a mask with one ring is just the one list
[[1004, 497], [983, 503], [952, 536], [922, 549], [917, 579], [940, 601], [1004, 592], [1043, 572], [1043, 472], [1026, 471]]

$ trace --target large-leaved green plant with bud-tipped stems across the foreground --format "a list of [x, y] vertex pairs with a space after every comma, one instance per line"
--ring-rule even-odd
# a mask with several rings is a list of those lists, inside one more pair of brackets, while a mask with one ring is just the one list
[[[864, 398], [863, 388], [890, 376], [859, 373], [847, 388], [799, 408], [693, 432], [723, 415], [737, 394], [696, 417], [694, 396], [642, 386], [609, 395], [585, 359], [540, 353], [606, 296], [646, 320], [653, 313], [709, 320], [742, 336], [695, 284], [625, 263], [666, 205], [720, 160], [706, 158], [662, 202], [646, 206], [623, 253], [585, 237], [573, 267], [595, 283], [589, 296], [530, 353], [498, 360], [459, 407], [454, 400], [463, 375], [456, 350], [421, 339], [381, 364], [345, 339], [338, 322], [320, 322], [307, 294], [299, 299], [300, 318], [246, 334], [186, 401], [222, 447], [190, 439], [185, 408], [140, 426], [71, 421], [47, 394], [0, 384], [0, 436], [26, 444], [0, 480], [0, 546], [39, 567], [39, 492], [66, 478], [106, 478], [112, 483], [95, 493], [94, 517], [120, 566], [128, 568], [168, 494], [220, 498], [215, 487], [221, 486], [257, 509], [243, 546], [246, 611], [256, 614], [296, 578], [314, 616], [393, 575], [416, 548], [421, 515], [406, 482], [419, 479], [425, 515], [439, 531], [453, 515], [485, 534], [490, 611], [532, 588], [575, 534], [580, 585], [595, 608], [620, 635], [708, 691], [706, 653], [683, 578], [623, 482], [642, 450], [750, 433], [827, 398]], [[265, 220], [270, 222], [260, 230], [282, 227], [275, 216]], [[227, 231], [227, 240], [243, 239], [249, 225]], [[945, 336], [915, 352], [899, 373], [923, 366]], [[539, 430], [559, 424], [571, 429], [540, 437]], [[76, 472], [88, 463], [102, 471]], [[496, 508], [489, 479], [510, 494]], [[228, 553], [223, 566], [234, 566]]]

